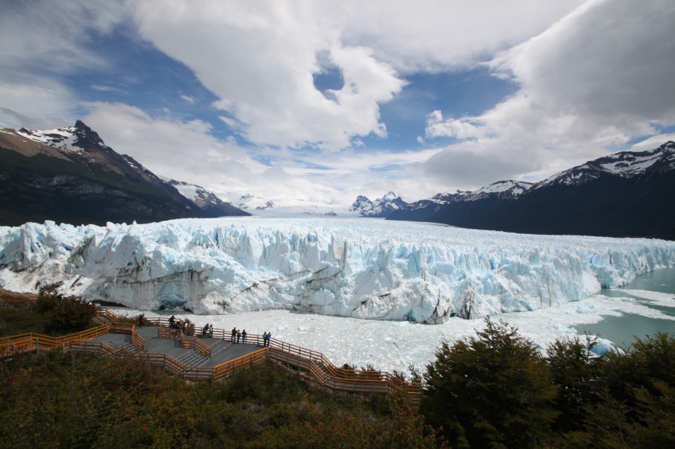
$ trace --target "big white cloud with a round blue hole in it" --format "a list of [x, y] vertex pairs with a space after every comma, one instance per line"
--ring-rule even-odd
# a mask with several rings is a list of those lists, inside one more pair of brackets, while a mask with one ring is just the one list
[[[368, 48], [342, 45], [339, 29], [313, 5], [144, 1], [135, 16], [144, 38], [193, 69], [251, 142], [338, 150], [356, 136], [382, 136], [378, 105], [404, 82]], [[314, 87], [318, 55], [328, 55], [344, 78], [335, 101]]]

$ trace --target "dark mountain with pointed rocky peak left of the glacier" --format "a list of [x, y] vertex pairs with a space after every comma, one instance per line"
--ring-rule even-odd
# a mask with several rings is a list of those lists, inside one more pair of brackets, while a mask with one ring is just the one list
[[1, 225], [210, 216], [82, 121], [48, 131], [0, 129], [0, 160]]

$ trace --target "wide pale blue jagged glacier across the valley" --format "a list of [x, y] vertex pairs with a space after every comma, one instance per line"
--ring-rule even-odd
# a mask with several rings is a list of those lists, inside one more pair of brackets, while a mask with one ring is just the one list
[[132, 309], [444, 323], [578, 301], [675, 266], [675, 242], [367, 218], [0, 227], [0, 284]]

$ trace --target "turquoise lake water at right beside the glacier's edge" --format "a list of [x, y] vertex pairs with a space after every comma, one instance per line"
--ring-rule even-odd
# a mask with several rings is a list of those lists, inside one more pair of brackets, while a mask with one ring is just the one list
[[[654, 304], [649, 299], [627, 294], [625, 292], [627, 289], [670, 293], [675, 296], [675, 268], [647, 273], [646, 275], [637, 277], [633, 282], [620, 289], [603, 289], [600, 292], [600, 294], [610, 297], [622, 296], [633, 298], [639, 304], [648, 306], [650, 309], [662, 311], [668, 316], [675, 316], [675, 300], [673, 307]], [[603, 321], [593, 324], [582, 324], [574, 326], [574, 328], [580, 334], [591, 333], [599, 335], [601, 338], [611, 340], [615, 345], [622, 347], [633, 343], [636, 336], [644, 339], [644, 336], [652, 336], [659, 331], [671, 333], [675, 336], [675, 320], [649, 318], [648, 316], [637, 314], [622, 314], [622, 316], [603, 315]]]

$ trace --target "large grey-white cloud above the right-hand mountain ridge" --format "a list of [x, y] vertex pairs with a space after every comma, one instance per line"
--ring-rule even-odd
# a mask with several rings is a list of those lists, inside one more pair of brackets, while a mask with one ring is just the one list
[[426, 173], [448, 184], [470, 182], [467, 173], [540, 180], [674, 125], [673, 26], [671, 1], [589, 1], [504, 51], [490, 65], [519, 91], [480, 116], [431, 113], [427, 137], [467, 141]]

